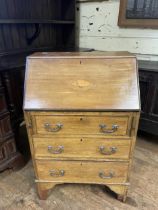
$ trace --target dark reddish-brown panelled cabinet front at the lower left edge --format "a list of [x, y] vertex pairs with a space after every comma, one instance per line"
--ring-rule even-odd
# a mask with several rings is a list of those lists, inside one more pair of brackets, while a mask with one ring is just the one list
[[0, 75], [0, 171], [24, 165], [22, 155], [16, 149], [16, 143], [7, 109], [5, 88]]

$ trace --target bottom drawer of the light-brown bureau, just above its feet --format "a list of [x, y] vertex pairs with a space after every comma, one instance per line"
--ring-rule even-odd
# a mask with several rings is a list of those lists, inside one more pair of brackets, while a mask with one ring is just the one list
[[123, 183], [128, 163], [91, 161], [37, 161], [39, 180], [68, 183]]

